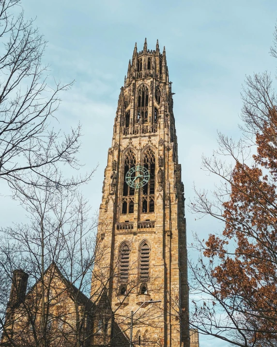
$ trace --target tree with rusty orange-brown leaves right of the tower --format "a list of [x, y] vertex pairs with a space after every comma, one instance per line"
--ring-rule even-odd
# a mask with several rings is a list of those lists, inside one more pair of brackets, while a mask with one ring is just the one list
[[[277, 58], [277, 28], [271, 49]], [[191, 210], [224, 225], [194, 244], [191, 324], [236, 346], [277, 345], [277, 98], [267, 72], [246, 78], [242, 138], [219, 133], [203, 169], [220, 180], [195, 190]]]

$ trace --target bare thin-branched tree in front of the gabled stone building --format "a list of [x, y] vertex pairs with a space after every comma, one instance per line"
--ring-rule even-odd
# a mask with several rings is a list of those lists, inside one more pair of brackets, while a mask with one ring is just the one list
[[[104, 346], [124, 346], [130, 315], [121, 309], [140, 285], [137, 264], [130, 264], [126, 292], [113, 287], [110, 295], [119, 296], [119, 302], [112, 310], [108, 288], [119, 276], [119, 259], [114, 269], [92, 277], [92, 270], [104, 264], [110, 252], [101, 236], [96, 236], [96, 219], [90, 218], [90, 208], [77, 190], [57, 189], [51, 182], [45, 182], [45, 187], [30, 185], [25, 195], [18, 195], [29, 223], [6, 228], [0, 243], [2, 342], [81, 347], [101, 341]], [[154, 280], [149, 279], [149, 289]], [[162, 314], [158, 306], [149, 306], [136, 315], [134, 326], [154, 327], [155, 317]], [[141, 341], [149, 338], [143, 336]], [[152, 337], [152, 345], [159, 346], [159, 341]]]

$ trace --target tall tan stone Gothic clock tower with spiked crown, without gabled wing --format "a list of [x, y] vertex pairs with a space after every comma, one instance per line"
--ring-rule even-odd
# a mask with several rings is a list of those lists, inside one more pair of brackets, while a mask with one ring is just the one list
[[[145, 39], [138, 52], [136, 44], [108, 149], [98, 226], [103, 250], [92, 275], [92, 297], [100, 283], [108, 287], [127, 336], [131, 311], [161, 300], [134, 315], [138, 346], [189, 346], [185, 198], [173, 94], [165, 48], [160, 53], [157, 41], [156, 49], [148, 50]], [[136, 179], [138, 165], [148, 177]], [[132, 167], [129, 183], [143, 186], [126, 182]]]

